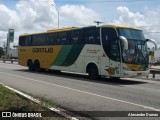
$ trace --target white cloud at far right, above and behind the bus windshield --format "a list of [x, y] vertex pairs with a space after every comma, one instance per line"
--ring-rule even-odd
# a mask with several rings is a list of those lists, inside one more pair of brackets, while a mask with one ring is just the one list
[[146, 38], [155, 39], [160, 47], [160, 7], [154, 10], [146, 9], [144, 13], [132, 12], [129, 8], [119, 6], [117, 8], [119, 13], [118, 20], [114, 20], [118, 24], [127, 24], [142, 28]]

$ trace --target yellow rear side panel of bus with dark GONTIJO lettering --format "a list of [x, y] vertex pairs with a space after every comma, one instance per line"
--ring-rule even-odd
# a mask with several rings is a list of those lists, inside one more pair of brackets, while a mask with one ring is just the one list
[[54, 46], [31, 46], [20, 47], [18, 51], [18, 57], [21, 58], [19, 64], [26, 66], [29, 59], [34, 63], [35, 60], [39, 60], [41, 68], [49, 68], [59, 54], [62, 45]]

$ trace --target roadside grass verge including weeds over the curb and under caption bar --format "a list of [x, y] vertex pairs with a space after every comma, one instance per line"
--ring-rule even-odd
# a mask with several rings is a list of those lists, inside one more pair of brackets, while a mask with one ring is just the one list
[[[47, 104], [47, 106], [53, 106], [54, 104], [51, 101], [45, 100], [42, 104]], [[67, 120], [64, 117], [61, 117], [55, 112], [50, 111], [49, 109], [43, 107], [42, 104], [37, 104], [29, 99], [26, 99], [19, 94], [5, 88], [3, 85], [0, 84], [0, 111], [9, 111], [9, 112], [45, 112], [49, 113], [49, 116], [37, 118], [39, 119], [47, 119], [47, 120]], [[53, 116], [53, 117], [51, 117]], [[57, 116], [57, 117], [55, 117]], [[20, 118], [15, 118], [17, 120]], [[22, 119], [22, 118], [21, 118]], [[25, 118], [26, 119], [26, 118]], [[29, 120], [31, 118], [28, 118]], [[35, 119], [35, 118], [32, 118]]]

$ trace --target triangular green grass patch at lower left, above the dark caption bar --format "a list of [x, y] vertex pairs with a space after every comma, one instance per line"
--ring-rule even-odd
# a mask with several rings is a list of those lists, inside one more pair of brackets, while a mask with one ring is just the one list
[[0, 111], [41, 111], [40, 105], [0, 85]]

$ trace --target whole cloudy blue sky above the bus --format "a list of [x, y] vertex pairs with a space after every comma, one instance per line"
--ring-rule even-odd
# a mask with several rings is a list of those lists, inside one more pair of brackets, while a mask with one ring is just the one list
[[126, 24], [140, 27], [146, 38], [160, 47], [160, 0], [0, 0], [0, 46], [9, 28], [14, 43], [23, 33], [41, 32], [59, 26]]

